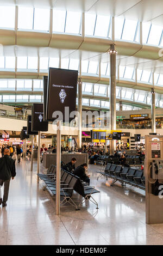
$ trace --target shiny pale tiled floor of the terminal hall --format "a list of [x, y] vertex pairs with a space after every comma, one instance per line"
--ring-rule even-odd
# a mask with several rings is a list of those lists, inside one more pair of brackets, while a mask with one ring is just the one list
[[99, 166], [89, 166], [99, 210], [87, 202], [80, 211], [62, 206], [60, 216], [55, 198], [36, 182], [36, 162], [33, 172], [28, 160], [16, 167], [8, 205], [0, 206], [0, 245], [163, 245], [163, 224], [145, 223], [145, 192], [97, 181]]

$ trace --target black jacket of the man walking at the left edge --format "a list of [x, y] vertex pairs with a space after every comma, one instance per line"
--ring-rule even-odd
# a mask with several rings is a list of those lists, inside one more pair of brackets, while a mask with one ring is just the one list
[[16, 176], [15, 161], [8, 155], [0, 158], [0, 179], [9, 180]]

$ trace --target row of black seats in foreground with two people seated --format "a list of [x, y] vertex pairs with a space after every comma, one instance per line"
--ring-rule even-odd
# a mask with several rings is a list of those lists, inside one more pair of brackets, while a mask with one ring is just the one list
[[[53, 195], [56, 195], [56, 166], [53, 164], [48, 168], [46, 174], [37, 174], [39, 178], [45, 182], [45, 188], [51, 190]], [[83, 197], [83, 200], [80, 201], [79, 205], [74, 202], [72, 199], [73, 190], [80, 194]], [[80, 178], [70, 172], [61, 168], [60, 173], [60, 196], [63, 198], [61, 205], [69, 203], [73, 205], [76, 210], [79, 210], [79, 206], [82, 205], [86, 200], [90, 200], [92, 203], [96, 204], [98, 209], [98, 203], [92, 197], [92, 194], [99, 193], [94, 186], [88, 186], [85, 182], [80, 180]], [[91, 199], [93, 200], [91, 200]]]

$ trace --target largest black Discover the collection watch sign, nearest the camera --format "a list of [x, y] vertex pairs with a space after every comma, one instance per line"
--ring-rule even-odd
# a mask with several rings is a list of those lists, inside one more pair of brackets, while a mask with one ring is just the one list
[[78, 70], [49, 68], [46, 120], [70, 122], [76, 111]]

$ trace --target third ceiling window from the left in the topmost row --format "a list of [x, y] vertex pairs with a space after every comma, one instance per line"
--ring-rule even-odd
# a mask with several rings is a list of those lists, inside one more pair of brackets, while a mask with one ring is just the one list
[[34, 30], [49, 31], [50, 10], [34, 8]]

